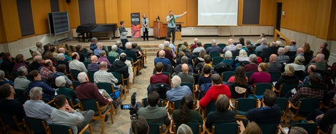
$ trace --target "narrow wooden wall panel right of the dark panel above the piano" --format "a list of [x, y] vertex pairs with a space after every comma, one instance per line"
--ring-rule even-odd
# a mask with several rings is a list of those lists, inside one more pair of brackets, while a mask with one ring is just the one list
[[[111, 6], [113, 8], [113, 6]], [[94, 13], [96, 24], [106, 24], [106, 7], [105, 1], [94, 1]]]

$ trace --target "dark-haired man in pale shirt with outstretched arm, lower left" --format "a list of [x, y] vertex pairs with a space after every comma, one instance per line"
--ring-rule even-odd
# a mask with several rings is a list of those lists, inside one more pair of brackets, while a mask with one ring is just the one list
[[94, 115], [93, 110], [83, 112], [73, 110], [63, 94], [55, 97], [55, 104], [58, 109], [53, 109], [50, 114], [52, 124], [71, 126], [73, 133], [78, 133], [85, 128]]

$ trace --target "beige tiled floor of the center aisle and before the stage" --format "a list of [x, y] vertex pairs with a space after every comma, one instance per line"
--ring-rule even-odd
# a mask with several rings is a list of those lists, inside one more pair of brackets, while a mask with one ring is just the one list
[[[235, 42], [238, 42], [237, 37], [200, 37], [200, 41], [202, 43], [211, 43], [212, 39], [216, 39], [217, 43], [227, 43], [227, 40], [229, 38], [233, 38]], [[252, 42], [255, 42], [258, 40], [258, 36], [245, 36], [245, 40], [251, 40]], [[273, 40], [272, 37], [267, 37], [269, 40], [268, 42], [271, 42]], [[99, 40], [100, 42], [103, 43], [103, 45], [113, 45], [116, 43], [117, 39], [113, 40]], [[142, 38], [129, 38], [131, 42], [136, 42], [140, 46], [141, 45], [158, 45], [160, 43], [163, 43], [164, 40], [157, 40], [155, 38], [150, 38], [149, 41], [143, 41]], [[184, 38], [183, 40], [176, 40], [176, 45], [179, 43], [183, 43], [183, 41], [188, 41], [188, 43], [193, 43], [193, 38]], [[81, 44], [84, 46], [89, 46], [90, 43], [83, 43], [83, 42], [78, 42], [76, 40], [70, 40], [66, 41], [62, 44], [69, 44], [69, 45], [77, 45]], [[130, 94], [127, 94], [126, 100], [123, 99], [123, 104], [130, 104], [130, 96], [132, 95], [133, 92], [137, 92], [137, 101], [141, 101], [142, 98], [147, 97], [147, 86], [149, 84], [149, 79], [153, 73], [153, 61], [155, 57], [148, 57], [147, 58], [147, 64], [148, 68], [141, 70], [142, 74], [139, 76], [135, 77], [135, 84], [130, 84]], [[111, 116], [110, 116], [111, 117]], [[111, 121], [106, 121], [105, 122], [105, 127], [104, 127], [104, 133], [130, 133], [130, 111], [129, 110], [120, 110], [120, 107], [118, 107], [118, 113], [113, 114], [113, 121], [114, 124], [111, 124]], [[92, 131], [94, 133], [100, 133], [101, 128], [102, 128], [102, 121], [94, 121], [91, 123], [92, 125]]]

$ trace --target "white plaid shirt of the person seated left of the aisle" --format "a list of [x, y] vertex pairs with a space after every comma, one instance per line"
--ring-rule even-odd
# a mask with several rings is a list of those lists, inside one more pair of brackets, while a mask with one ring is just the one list
[[98, 70], [93, 75], [94, 84], [99, 82], [108, 82], [113, 84], [113, 86], [116, 86], [116, 83], [118, 83], [118, 79], [113, 76], [112, 73], [107, 72], [106, 70]]

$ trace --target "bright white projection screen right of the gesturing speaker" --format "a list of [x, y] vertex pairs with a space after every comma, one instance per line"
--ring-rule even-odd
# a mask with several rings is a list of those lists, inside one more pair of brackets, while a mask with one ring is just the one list
[[198, 0], [199, 26], [237, 26], [238, 0]]

